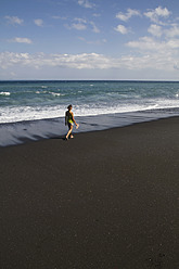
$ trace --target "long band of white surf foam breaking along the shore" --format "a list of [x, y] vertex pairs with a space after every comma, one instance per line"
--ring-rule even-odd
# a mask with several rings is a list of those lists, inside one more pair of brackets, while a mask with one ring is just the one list
[[[54, 92], [53, 92], [54, 93]], [[56, 94], [56, 93], [55, 93]], [[59, 93], [60, 94], [60, 93]], [[59, 95], [57, 94], [57, 95]], [[94, 116], [114, 113], [130, 113], [156, 108], [179, 107], [178, 100], [150, 100], [149, 103], [120, 103], [120, 104], [81, 104], [73, 106], [75, 116]], [[0, 123], [16, 123], [23, 120], [36, 120], [43, 118], [64, 117], [66, 105], [54, 106], [8, 106], [0, 107]]]

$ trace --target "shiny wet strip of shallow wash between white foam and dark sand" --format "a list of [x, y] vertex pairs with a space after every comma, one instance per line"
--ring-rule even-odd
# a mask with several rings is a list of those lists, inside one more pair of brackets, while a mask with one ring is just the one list
[[[130, 113], [115, 113], [90, 116], [75, 116], [79, 129], [74, 128], [75, 133], [105, 130], [116, 127], [130, 126], [138, 123], [148, 123], [159, 118], [179, 116], [172, 108], [140, 111]], [[17, 123], [0, 124], [0, 146], [17, 145], [27, 141], [59, 138], [65, 136], [67, 128], [64, 117], [44, 118]]]

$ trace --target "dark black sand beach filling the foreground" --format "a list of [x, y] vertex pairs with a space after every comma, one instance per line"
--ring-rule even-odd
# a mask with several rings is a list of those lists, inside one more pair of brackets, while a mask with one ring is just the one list
[[178, 269], [179, 118], [0, 149], [1, 269]]

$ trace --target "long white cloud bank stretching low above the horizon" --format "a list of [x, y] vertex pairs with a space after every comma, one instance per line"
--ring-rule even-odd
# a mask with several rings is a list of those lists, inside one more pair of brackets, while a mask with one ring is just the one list
[[[159, 43], [152, 38], [142, 38], [139, 41], [128, 42], [128, 47], [138, 48], [148, 53], [140, 56], [124, 55], [122, 57], [110, 57], [98, 53], [81, 54], [44, 54], [44, 53], [0, 53], [0, 66], [7, 69], [12, 66], [26, 66], [40, 69], [47, 67], [75, 68], [75, 69], [164, 69], [172, 71], [178, 66], [172, 49], [179, 49], [179, 40], [176, 42]], [[157, 50], [161, 50], [158, 54]]]

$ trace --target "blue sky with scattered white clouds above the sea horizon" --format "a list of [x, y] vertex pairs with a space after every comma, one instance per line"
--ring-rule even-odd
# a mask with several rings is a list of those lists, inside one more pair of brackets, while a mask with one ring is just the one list
[[1, 0], [0, 80], [179, 80], [178, 0]]

